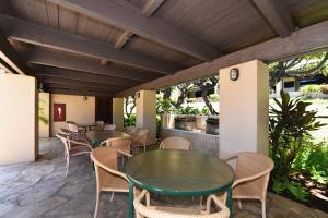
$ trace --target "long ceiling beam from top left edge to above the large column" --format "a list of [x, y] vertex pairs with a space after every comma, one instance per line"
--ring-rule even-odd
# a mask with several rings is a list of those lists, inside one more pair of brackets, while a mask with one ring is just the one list
[[210, 45], [184, 33], [179, 28], [154, 16], [142, 16], [141, 10], [136, 13], [136, 10], [130, 10], [107, 0], [48, 1], [203, 61], [210, 61], [219, 56]]

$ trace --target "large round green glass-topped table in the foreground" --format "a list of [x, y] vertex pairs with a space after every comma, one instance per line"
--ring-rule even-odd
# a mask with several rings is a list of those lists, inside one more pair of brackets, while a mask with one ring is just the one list
[[162, 195], [208, 196], [227, 192], [232, 211], [234, 170], [218, 157], [201, 153], [157, 149], [131, 157], [126, 165], [129, 179], [129, 217], [134, 217], [133, 186]]

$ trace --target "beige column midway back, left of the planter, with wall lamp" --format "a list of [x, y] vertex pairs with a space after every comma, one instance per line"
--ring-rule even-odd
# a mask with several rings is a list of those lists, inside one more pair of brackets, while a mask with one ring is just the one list
[[137, 92], [137, 126], [150, 130], [148, 144], [156, 141], [156, 92]]

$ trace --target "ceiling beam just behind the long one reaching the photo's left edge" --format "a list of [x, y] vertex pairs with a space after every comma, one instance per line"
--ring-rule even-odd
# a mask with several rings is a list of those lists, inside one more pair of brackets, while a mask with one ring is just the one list
[[137, 69], [134, 71], [125, 70], [115, 65], [105, 66], [101, 65], [96, 60], [65, 53], [56, 53], [37, 49], [22, 50], [22, 53], [24, 53], [24, 58], [28, 63], [105, 75], [113, 77], [113, 80], [116, 78], [116, 81], [124, 81], [127, 83], [137, 84], [138, 82], [148, 82], [160, 77], [159, 73], [149, 73]]

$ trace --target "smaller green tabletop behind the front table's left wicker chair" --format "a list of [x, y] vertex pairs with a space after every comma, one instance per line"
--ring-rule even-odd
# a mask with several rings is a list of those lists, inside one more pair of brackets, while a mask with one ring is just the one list
[[108, 138], [125, 137], [130, 138], [130, 135], [116, 130], [93, 130], [89, 131], [85, 136], [91, 141], [93, 146], [98, 146], [102, 142]]

